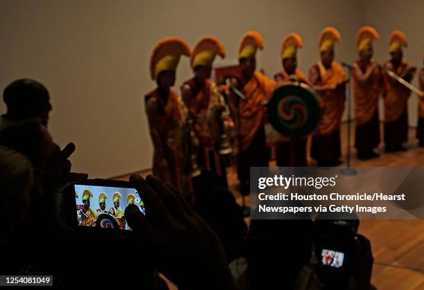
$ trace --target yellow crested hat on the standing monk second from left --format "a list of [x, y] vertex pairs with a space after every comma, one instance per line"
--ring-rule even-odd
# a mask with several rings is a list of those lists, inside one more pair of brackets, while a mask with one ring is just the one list
[[190, 55], [190, 65], [194, 69], [196, 66], [212, 66], [215, 56], [225, 57], [225, 48], [220, 39], [214, 36], [206, 36], [200, 39], [193, 48]]

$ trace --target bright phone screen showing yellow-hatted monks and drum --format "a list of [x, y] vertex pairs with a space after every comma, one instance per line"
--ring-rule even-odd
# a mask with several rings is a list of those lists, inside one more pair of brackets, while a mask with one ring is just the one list
[[78, 226], [131, 230], [125, 208], [134, 204], [145, 214], [144, 203], [134, 188], [74, 185]]

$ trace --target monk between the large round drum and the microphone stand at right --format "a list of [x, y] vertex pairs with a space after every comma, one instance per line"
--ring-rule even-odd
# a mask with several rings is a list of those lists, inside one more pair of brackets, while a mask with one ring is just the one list
[[312, 136], [310, 156], [317, 160], [318, 166], [336, 166], [342, 163], [340, 145], [340, 123], [346, 99], [346, 73], [334, 61], [334, 45], [339, 42], [339, 31], [326, 27], [319, 37], [321, 61], [309, 71], [313, 89], [321, 97], [323, 116]]

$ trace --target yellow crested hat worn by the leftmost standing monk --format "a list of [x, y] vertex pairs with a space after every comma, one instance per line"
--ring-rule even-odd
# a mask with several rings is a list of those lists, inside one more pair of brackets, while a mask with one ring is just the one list
[[184, 39], [166, 37], [153, 48], [150, 56], [150, 77], [156, 80], [162, 71], [175, 71], [181, 55], [190, 56], [190, 47]]

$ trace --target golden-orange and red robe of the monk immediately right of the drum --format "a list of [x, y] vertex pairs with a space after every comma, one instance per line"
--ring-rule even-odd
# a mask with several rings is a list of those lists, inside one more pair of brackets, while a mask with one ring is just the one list
[[[333, 62], [330, 69], [326, 69], [321, 62], [318, 62], [315, 66], [319, 71], [319, 80], [315, 85], [331, 86], [347, 80], [346, 73], [337, 62]], [[319, 96], [321, 97], [324, 114], [314, 135], [327, 136], [340, 128], [346, 98], [344, 91], [339, 90], [322, 91], [319, 92]]]

